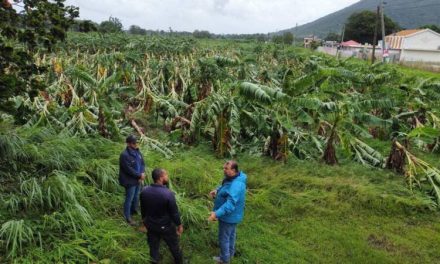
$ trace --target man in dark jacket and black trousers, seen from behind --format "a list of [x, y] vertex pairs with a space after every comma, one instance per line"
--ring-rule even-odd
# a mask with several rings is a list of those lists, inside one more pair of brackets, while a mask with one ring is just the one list
[[[174, 257], [174, 263], [183, 263], [179, 236], [183, 232], [174, 194], [167, 188], [168, 173], [154, 169], [154, 183], [141, 192], [141, 214], [147, 228], [147, 240], [152, 263], [159, 263], [159, 245], [163, 238]], [[176, 229], [177, 226], [177, 229]]]

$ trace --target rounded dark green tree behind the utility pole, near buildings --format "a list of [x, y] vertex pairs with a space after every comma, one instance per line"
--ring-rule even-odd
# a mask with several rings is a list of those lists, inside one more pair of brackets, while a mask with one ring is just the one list
[[[400, 26], [385, 16], [385, 34], [391, 34], [400, 29]], [[374, 39], [374, 27], [376, 25], [376, 13], [361, 11], [353, 13], [345, 25], [345, 37], [347, 40], [355, 40], [359, 43], [372, 43]], [[378, 38], [381, 39], [381, 38]]]

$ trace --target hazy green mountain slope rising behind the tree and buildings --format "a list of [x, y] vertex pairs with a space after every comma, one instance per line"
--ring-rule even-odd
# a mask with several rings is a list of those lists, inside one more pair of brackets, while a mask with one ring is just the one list
[[[278, 33], [292, 32], [298, 37], [312, 34], [325, 37], [329, 32], [339, 33], [351, 14], [361, 10], [375, 11], [379, 3], [379, 0], [362, 0], [296, 29], [290, 28]], [[387, 0], [384, 10], [385, 14], [402, 28], [417, 28], [426, 24], [440, 25], [439, 0]]]

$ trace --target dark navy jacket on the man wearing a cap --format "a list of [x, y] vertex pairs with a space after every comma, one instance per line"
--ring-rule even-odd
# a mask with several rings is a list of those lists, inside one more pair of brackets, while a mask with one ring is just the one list
[[119, 184], [131, 187], [139, 184], [145, 162], [139, 149], [127, 147], [119, 156]]

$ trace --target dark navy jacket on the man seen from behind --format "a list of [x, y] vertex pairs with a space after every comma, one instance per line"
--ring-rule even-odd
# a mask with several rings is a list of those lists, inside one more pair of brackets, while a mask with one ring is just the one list
[[152, 184], [142, 189], [141, 215], [148, 228], [163, 229], [181, 224], [174, 193], [163, 185]]

